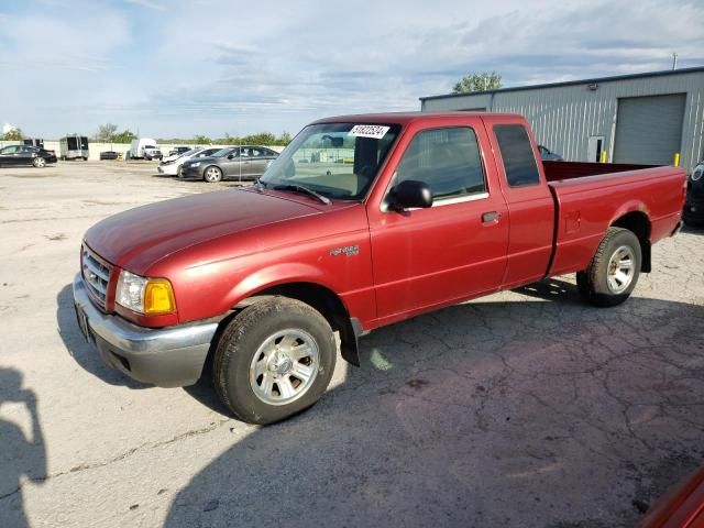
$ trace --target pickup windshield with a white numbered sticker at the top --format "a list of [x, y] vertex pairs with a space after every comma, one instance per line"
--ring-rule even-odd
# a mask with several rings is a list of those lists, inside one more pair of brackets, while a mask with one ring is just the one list
[[321, 123], [306, 127], [260, 182], [300, 186], [327, 198], [361, 200], [396, 141], [400, 125]]

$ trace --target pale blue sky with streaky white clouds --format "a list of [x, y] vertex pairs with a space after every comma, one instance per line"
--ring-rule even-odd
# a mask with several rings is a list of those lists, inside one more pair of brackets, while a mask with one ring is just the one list
[[505, 87], [704, 66], [704, 2], [0, 0], [0, 124], [25, 135], [296, 133]]

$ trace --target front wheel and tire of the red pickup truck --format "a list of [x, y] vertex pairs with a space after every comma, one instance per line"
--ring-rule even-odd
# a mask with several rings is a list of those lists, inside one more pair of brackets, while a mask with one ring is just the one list
[[[295, 351], [307, 350], [308, 356], [297, 358]], [[222, 332], [213, 358], [213, 385], [238, 419], [273, 424], [320, 399], [336, 359], [334, 334], [320, 312], [299, 300], [270, 297], [242, 310]], [[296, 377], [300, 369], [307, 371], [307, 381]]]

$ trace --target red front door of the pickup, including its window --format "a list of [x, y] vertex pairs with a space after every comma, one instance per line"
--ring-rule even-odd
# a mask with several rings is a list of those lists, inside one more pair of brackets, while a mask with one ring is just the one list
[[[464, 119], [466, 123], [466, 118]], [[496, 167], [484, 164], [486, 132], [474, 127], [420, 130], [389, 188], [428, 184], [433, 205], [369, 210], [377, 317], [393, 322], [498, 289], [506, 270], [508, 215]], [[399, 145], [400, 146], [400, 145]]]

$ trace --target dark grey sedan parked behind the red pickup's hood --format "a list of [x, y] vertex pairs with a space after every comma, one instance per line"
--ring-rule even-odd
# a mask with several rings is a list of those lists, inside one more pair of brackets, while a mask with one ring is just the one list
[[179, 177], [209, 183], [222, 179], [255, 179], [264, 174], [276, 157], [278, 153], [265, 146], [229, 146], [216, 152], [211, 157], [185, 162]]

